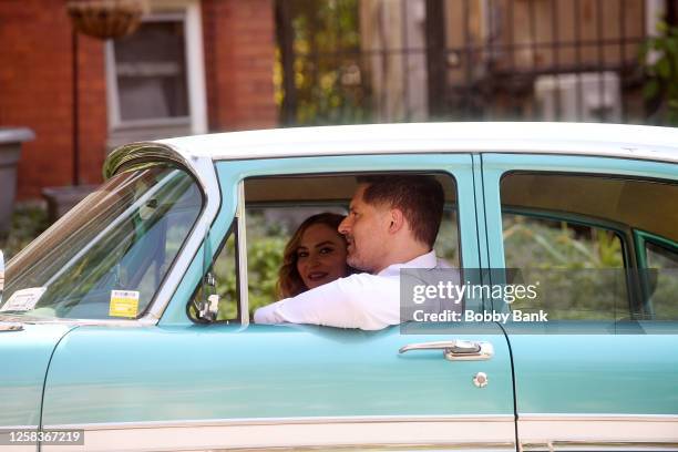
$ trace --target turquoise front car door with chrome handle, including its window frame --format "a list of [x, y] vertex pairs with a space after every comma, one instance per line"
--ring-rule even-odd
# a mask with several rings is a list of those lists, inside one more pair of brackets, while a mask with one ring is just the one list
[[[244, 182], [366, 171], [453, 177], [460, 260], [465, 268], [480, 266], [480, 187], [469, 154], [217, 163], [222, 208], [203, 253], [218, 256], [235, 235], [238, 253], [232, 268], [240, 275], [251, 271], [244, 263], [250, 236]], [[205, 273], [203, 253], [157, 326], [83, 327], [60, 343], [47, 379], [44, 425], [84, 429], [85, 444], [96, 450], [515, 450], [511, 358], [496, 323], [417, 335], [400, 327], [259, 326], [248, 325], [240, 306], [236, 321], [199, 325], [191, 320], [191, 304]], [[239, 289], [242, 298], [251, 287]], [[490, 359], [468, 360], [445, 359], [440, 349], [399, 353], [408, 345], [452, 340], [486, 342], [493, 352]]]

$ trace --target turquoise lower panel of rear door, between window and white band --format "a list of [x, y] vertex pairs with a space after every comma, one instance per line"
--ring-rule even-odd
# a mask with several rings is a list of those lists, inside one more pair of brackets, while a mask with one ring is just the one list
[[678, 415], [678, 322], [660, 333], [651, 323], [615, 333], [587, 322], [589, 333], [571, 335], [508, 327], [518, 414]]

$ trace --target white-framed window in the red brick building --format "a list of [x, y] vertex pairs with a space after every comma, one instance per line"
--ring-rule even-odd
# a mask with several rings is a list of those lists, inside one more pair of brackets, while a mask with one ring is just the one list
[[134, 34], [107, 44], [111, 147], [207, 132], [199, 3], [172, 3], [153, 2]]

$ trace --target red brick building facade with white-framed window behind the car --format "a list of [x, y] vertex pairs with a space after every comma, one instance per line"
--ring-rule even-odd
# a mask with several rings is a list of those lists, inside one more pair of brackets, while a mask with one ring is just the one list
[[[23, 146], [19, 198], [35, 198], [45, 186], [70, 185], [73, 181], [74, 99], [78, 100], [78, 171], [82, 184], [100, 183], [106, 152], [124, 142], [277, 125], [273, 0], [151, 0], [150, 7], [148, 23], [178, 30], [176, 38], [185, 40], [184, 53], [174, 64], [120, 61], [117, 55], [123, 49], [115, 45], [124, 42], [104, 42], [79, 34], [73, 45], [65, 1], [0, 2], [0, 61], [3, 62], [0, 64], [0, 126], [28, 126], [37, 136]], [[158, 37], [156, 31], [151, 29], [142, 35]], [[130, 43], [137, 41], [127, 41], [126, 45], [131, 47]], [[73, 49], [78, 51], [76, 71]], [[178, 68], [178, 74], [185, 79], [179, 83], [187, 92], [184, 110], [188, 113], [183, 114], [187, 117], [126, 121], [125, 102], [138, 102], [135, 96], [140, 93], [172, 95], [173, 90], [154, 89], [165, 82], [153, 86], [146, 81], [140, 83], [142, 75], [156, 71], [160, 80], [176, 72], [177, 64], [184, 64]], [[75, 72], [76, 96], [73, 95]], [[123, 95], [123, 89], [132, 91]], [[147, 102], [142, 100], [144, 103]], [[181, 112], [175, 116], [182, 116]]]

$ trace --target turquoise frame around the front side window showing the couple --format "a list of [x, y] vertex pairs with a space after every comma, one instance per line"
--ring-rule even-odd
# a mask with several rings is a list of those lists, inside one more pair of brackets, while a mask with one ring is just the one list
[[[378, 173], [417, 173], [417, 174], [441, 174], [452, 177], [456, 191], [456, 222], [460, 265], [462, 268], [480, 268], [480, 229], [474, 194], [477, 193], [477, 178], [474, 176], [476, 162], [470, 152], [450, 153], [398, 153], [398, 154], [361, 154], [361, 155], [323, 155], [323, 156], [295, 156], [285, 158], [246, 158], [246, 160], [219, 160], [214, 161], [217, 181], [219, 182], [222, 205], [210, 226], [210, 246], [203, 243], [198, 251], [184, 274], [179, 287], [175, 290], [167, 305], [160, 326], [191, 326], [195, 325], [187, 315], [186, 305], [192, 300], [197, 284], [203, 277], [203, 256], [209, 248], [212, 250], [220, 247], [220, 242], [226, 237], [230, 223], [245, 218], [239, 212], [244, 203], [239, 202], [239, 193], [236, 187], [245, 179], [253, 177], [275, 176], [331, 176], [331, 175], [358, 175]], [[225, 225], [228, 224], [228, 227]], [[465, 232], [462, 235], [462, 232]], [[243, 228], [238, 228], [239, 240], [246, 243], [243, 237]], [[468, 235], [468, 237], [466, 237]], [[240, 245], [243, 247], [243, 245]], [[209, 251], [208, 251], [209, 253]], [[246, 256], [239, 253], [240, 275], [243, 268], [247, 268]], [[213, 253], [214, 258], [214, 253]], [[245, 328], [249, 325], [249, 318], [245, 315], [243, 304], [243, 287], [246, 287], [245, 278], [239, 278], [240, 323]], [[248, 308], [248, 306], [247, 306]]]

